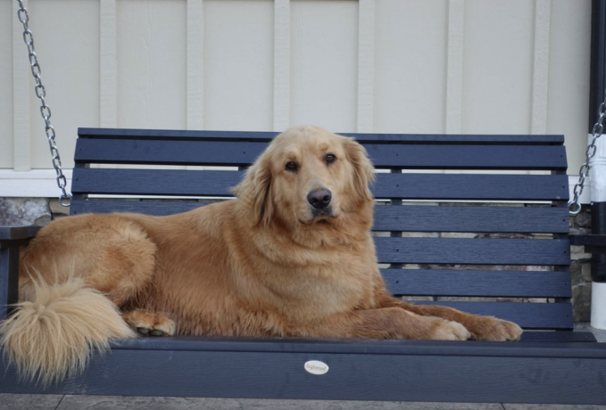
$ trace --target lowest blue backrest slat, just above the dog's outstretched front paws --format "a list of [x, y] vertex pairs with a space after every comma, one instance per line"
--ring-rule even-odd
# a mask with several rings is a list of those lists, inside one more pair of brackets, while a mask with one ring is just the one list
[[524, 329], [572, 329], [572, 304], [565, 303], [513, 303], [513, 302], [450, 302], [419, 301], [416, 305], [454, 307], [474, 315], [495, 316], [510, 320]]

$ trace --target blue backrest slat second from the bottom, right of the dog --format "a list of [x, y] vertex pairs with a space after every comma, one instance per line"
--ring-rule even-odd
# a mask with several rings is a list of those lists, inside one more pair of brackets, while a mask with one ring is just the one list
[[570, 273], [563, 271], [482, 271], [381, 269], [394, 295], [570, 298]]

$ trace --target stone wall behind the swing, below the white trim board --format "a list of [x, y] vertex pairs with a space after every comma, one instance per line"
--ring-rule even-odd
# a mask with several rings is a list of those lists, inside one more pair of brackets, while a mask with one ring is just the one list
[[[427, 205], [427, 203], [426, 203]], [[437, 205], [437, 204], [436, 204]], [[447, 204], [441, 204], [442, 206]], [[454, 205], [454, 204], [452, 204]], [[0, 225], [47, 225], [52, 220], [69, 215], [69, 208], [61, 206], [56, 199], [45, 198], [0, 198]], [[591, 233], [591, 212], [588, 206], [584, 206], [576, 217], [570, 217], [571, 234]], [[378, 234], [380, 235], [380, 234]], [[478, 234], [438, 234], [438, 233], [412, 233], [404, 234], [411, 236], [426, 237], [478, 237]], [[485, 235], [486, 236], [486, 235]], [[495, 236], [493, 234], [489, 235]], [[518, 234], [497, 234], [498, 237], [520, 237]], [[523, 235], [529, 237], [533, 235]], [[534, 235], [536, 236], [536, 235]], [[572, 274], [572, 303], [576, 322], [588, 322], [591, 314], [591, 255], [583, 251], [581, 246], [573, 246], [571, 250], [572, 263], [570, 272]], [[412, 266], [411, 266], [412, 267]], [[422, 268], [433, 268], [437, 266], [417, 266]], [[449, 268], [478, 268], [491, 270], [508, 270], [520, 267], [512, 266], [449, 266]], [[527, 270], [536, 270], [542, 266], [523, 266]], [[487, 300], [487, 298], [450, 298], [450, 297], [411, 297], [411, 300]], [[512, 298], [490, 298], [494, 301], [533, 301], [554, 302], [553, 299], [512, 299]]]

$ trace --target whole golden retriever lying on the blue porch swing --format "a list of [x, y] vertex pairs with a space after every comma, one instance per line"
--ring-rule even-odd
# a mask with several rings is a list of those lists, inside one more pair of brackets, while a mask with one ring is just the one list
[[352, 138], [295, 127], [247, 170], [235, 201], [56, 220], [21, 251], [4, 352], [48, 384], [137, 333], [519, 340], [511, 322], [386, 291], [370, 235], [373, 178]]

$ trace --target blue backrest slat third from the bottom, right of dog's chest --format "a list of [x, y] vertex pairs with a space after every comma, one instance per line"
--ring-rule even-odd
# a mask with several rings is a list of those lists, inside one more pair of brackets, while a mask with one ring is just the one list
[[375, 239], [379, 263], [569, 265], [568, 239]]

